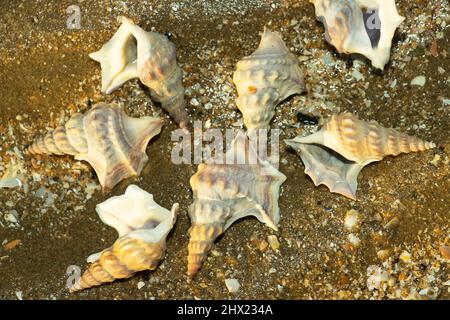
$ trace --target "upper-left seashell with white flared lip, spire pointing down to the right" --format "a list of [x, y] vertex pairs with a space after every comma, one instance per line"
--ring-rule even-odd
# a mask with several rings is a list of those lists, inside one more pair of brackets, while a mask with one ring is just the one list
[[102, 66], [102, 91], [111, 93], [132, 78], [150, 88], [153, 100], [182, 128], [188, 127], [183, 71], [177, 64], [175, 45], [165, 35], [147, 32], [132, 20], [122, 25], [100, 51], [90, 54]]

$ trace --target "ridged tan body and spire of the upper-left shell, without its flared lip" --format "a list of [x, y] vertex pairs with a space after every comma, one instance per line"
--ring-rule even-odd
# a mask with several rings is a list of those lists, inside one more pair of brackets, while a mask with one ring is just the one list
[[122, 17], [122, 21], [137, 41], [139, 79], [180, 127], [187, 128], [183, 71], [177, 63], [175, 45], [165, 35], [147, 32], [128, 18]]

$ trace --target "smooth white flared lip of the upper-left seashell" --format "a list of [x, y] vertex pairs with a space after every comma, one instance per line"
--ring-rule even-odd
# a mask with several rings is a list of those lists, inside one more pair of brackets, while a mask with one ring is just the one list
[[137, 45], [128, 24], [122, 23], [113, 37], [89, 54], [102, 67], [102, 92], [110, 94], [128, 80], [138, 78]]

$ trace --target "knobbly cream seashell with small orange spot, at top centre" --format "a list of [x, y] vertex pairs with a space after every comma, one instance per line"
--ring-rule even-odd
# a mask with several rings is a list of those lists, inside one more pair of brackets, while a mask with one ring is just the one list
[[258, 49], [237, 63], [233, 82], [237, 106], [248, 130], [268, 129], [275, 107], [305, 91], [298, 59], [281, 37], [264, 28]]

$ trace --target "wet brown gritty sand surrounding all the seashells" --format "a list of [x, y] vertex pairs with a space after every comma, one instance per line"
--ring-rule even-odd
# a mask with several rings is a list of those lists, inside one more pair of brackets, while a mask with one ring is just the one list
[[[449, 6], [448, 1], [397, 2], [406, 21], [383, 74], [367, 62], [351, 63], [336, 54], [323, 40], [323, 26], [307, 1], [3, 2], [0, 172], [21, 154], [28, 190], [0, 189], [0, 243], [21, 241], [11, 250], [0, 246], [0, 298], [449, 299], [449, 260], [439, 251], [450, 246], [450, 110], [445, 104], [450, 98]], [[66, 27], [66, 8], [72, 4], [81, 8], [79, 30]], [[308, 86], [308, 94], [277, 108], [272, 127], [282, 129], [281, 141], [315, 130], [298, 124], [298, 111], [324, 118], [349, 111], [438, 147], [370, 164], [359, 176], [358, 200], [352, 201], [315, 187], [300, 158], [281, 143], [280, 171], [288, 179], [279, 201], [279, 232], [254, 218], [236, 222], [218, 239], [196, 280], [188, 283], [189, 178], [196, 166], [171, 162], [170, 135], [176, 126], [151, 102], [148, 90], [132, 80], [112, 95], [102, 95], [100, 65], [88, 57], [112, 36], [120, 15], [146, 30], [170, 32], [185, 72], [191, 119], [209, 120], [216, 128], [242, 123], [231, 77], [267, 25], [299, 57]], [[420, 75], [426, 84], [411, 86]], [[132, 116], [164, 118], [162, 133], [147, 148], [143, 174], [110, 193], [97, 190], [87, 164], [69, 156], [32, 158], [25, 152], [47, 128], [100, 101], [118, 102]], [[180, 203], [163, 264], [128, 280], [69, 294], [67, 268], [84, 270], [86, 257], [116, 238], [97, 217], [95, 205], [122, 194], [130, 183], [166, 208]], [[350, 209], [362, 220], [351, 232], [344, 226]], [[17, 224], [11, 214], [17, 215]], [[360, 239], [359, 246], [349, 244], [349, 234]], [[267, 246], [270, 235], [277, 236], [278, 250]], [[380, 259], [382, 250], [388, 251]], [[371, 270], [386, 278], [376, 289], [368, 285]], [[227, 278], [238, 279], [237, 293], [228, 292]], [[145, 286], [138, 289], [140, 281]]]

